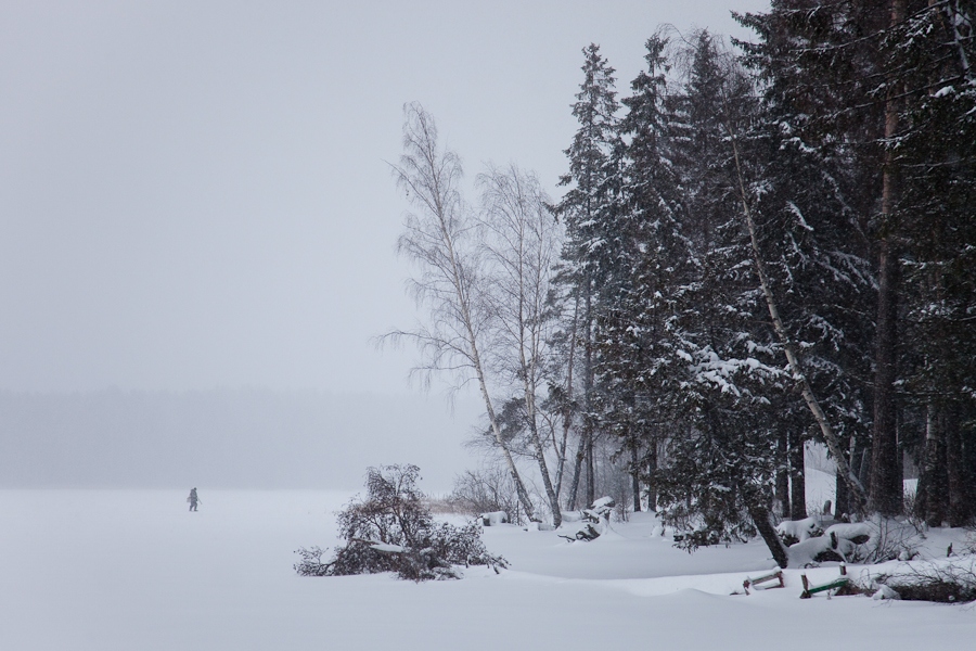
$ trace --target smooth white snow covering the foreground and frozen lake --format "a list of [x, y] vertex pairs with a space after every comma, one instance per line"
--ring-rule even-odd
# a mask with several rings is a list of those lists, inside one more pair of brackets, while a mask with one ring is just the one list
[[[724, 651], [788, 640], [939, 651], [976, 636], [972, 605], [799, 599], [800, 573], [821, 584], [836, 566], [787, 570], [785, 589], [732, 596], [773, 566], [761, 542], [688, 554], [646, 513], [592, 542], [488, 527], [489, 550], [511, 563], [498, 575], [299, 577], [293, 551], [337, 542], [347, 495], [202, 486], [189, 513], [184, 493], [0, 492], [0, 649]], [[945, 549], [963, 537], [950, 534], [933, 538]], [[876, 572], [850, 569], [865, 571]]]

